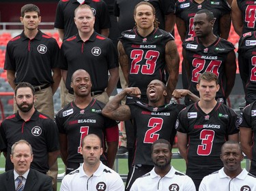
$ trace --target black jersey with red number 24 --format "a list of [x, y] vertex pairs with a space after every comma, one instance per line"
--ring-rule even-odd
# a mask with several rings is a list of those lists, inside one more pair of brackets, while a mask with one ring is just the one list
[[199, 43], [197, 37], [186, 39], [182, 47], [186, 50], [186, 59], [190, 65], [190, 76], [188, 79], [188, 89], [199, 96], [197, 91], [197, 82], [201, 73], [210, 71], [218, 76], [220, 90], [216, 98], [224, 99], [226, 90], [225, 61], [227, 54], [234, 49], [231, 42], [218, 37], [214, 44], [205, 47]]

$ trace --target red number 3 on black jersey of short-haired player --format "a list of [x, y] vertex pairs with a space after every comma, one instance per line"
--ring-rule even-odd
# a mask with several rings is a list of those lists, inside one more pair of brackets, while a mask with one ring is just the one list
[[201, 145], [197, 147], [197, 154], [200, 156], [208, 156], [212, 152], [212, 145], [214, 141], [215, 132], [204, 129], [200, 133]]

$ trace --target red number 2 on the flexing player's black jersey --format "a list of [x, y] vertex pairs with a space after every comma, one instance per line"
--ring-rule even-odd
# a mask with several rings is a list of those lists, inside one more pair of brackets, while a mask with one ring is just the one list
[[144, 143], [154, 143], [154, 141], [158, 140], [159, 134], [156, 132], [161, 130], [162, 123], [162, 118], [150, 118], [147, 124], [150, 129], [145, 133]]

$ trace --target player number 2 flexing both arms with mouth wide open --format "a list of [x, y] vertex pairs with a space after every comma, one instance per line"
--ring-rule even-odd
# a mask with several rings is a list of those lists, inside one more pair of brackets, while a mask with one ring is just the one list
[[[120, 101], [126, 96], [140, 97], [141, 90], [137, 87], [125, 88], [106, 104], [102, 114], [113, 120], [125, 121], [132, 119], [136, 131], [134, 145], [134, 158], [132, 168], [129, 169], [126, 181], [126, 190], [135, 179], [154, 168], [154, 162], [150, 156], [152, 143], [157, 139], [165, 139], [173, 144], [176, 135], [175, 122], [177, 115], [184, 105], [165, 103], [167, 97], [167, 86], [160, 80], [152, 80], [147, 86], [148, 103], [140, 100], [128, 105], [120, 105]], [[176, 92], [176, 91], [175, 91]], [[186, 92], [190, 99], [198, 100], [195, 94]]]

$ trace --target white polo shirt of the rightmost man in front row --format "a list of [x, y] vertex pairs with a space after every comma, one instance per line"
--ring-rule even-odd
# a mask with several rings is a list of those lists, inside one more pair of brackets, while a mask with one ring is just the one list
[[256, 177], [246, 169], [235, 178], [231, 179], [224, 172], [224, 167], [203, 177], [199, 191], [253, 191], [256, 190]]

